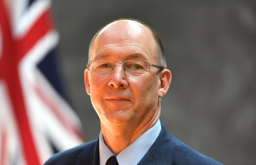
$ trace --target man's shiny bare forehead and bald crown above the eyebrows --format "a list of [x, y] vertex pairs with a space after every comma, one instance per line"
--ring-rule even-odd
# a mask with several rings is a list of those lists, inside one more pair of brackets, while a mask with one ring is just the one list
[[[92, 49], [91, 60], [115, 53], [146, 55], [149, 59], [155, 56], [156, 41], [151, 31], [144, 25], [121, 20], [107, 25], [96, 37]], [[107, 53], [107, 54], [106, 54]]]

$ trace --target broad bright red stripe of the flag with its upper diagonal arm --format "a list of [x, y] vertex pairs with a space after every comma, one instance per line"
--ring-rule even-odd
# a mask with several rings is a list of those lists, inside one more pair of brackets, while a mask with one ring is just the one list
[[40, 16], [25, 37], [17, 41], [13, 38], [11, 33], [7, 13], [3, 0], [0, 0], [0, 25], [3, 32], [2, 55], [0, 57], [0, 79], [4, 79], [4, 81], [7, 82], [7, 90], [13, 104], [25, 161], [28, 165], [40, 165], [34, 145], [32, 130], [29, 126], [18, 65], [29, 49], [53, 28], [53, 24], [50, 19], [50, 11], [48, 10]]

